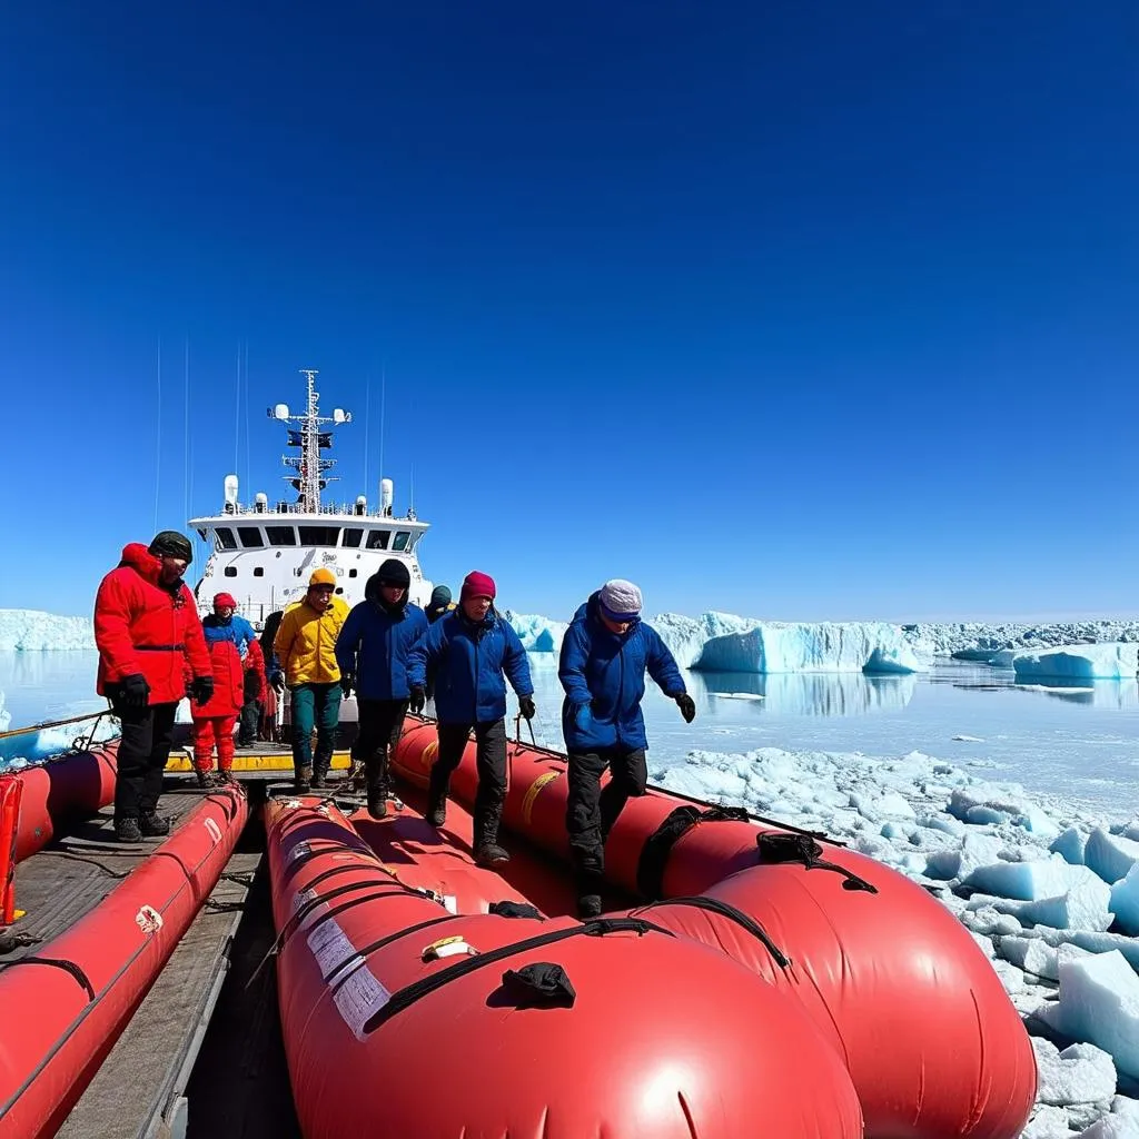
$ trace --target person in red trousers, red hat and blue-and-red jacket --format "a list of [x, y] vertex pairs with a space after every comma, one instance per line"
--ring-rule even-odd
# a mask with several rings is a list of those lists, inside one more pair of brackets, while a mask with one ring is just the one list
[[[213, 669], [213, 695], [191, 708], [194, 720], [194, 770], [199, 786], [208, 789], [220, 782], [233, 782], [233, 727], [245, 703], [245, 665], [249, 645], [256, 639], [253, 626], [235, 614], [237, 603], [229, 593], [214, 597], [214, 611], [202, 622], [210, 664]], [[213, 753], [218, 749], [219, 776], [214, 776]]]

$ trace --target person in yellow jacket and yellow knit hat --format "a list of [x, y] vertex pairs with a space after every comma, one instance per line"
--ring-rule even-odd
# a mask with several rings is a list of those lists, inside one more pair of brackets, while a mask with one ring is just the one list
[[[273, 638], [280, 675], [292, 694], [293, 768], [298, 794], [323, 787], [341, 719], [341, 670], [336, 638], [349, 615], [337, 597], [336, 575], [321, 567], [309, 579], [304, 600], [285, 609]], [[274, 674], [276, 675], [276, 674]], [[317, 727], [317, 754], [312, 728]]]

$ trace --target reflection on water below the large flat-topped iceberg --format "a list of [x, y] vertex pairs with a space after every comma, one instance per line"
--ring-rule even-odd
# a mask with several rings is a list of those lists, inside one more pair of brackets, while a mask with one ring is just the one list
[[770, 715], [867, 715], [899, 711], [913, 698], [917, 680], [861, 672], [691, 672], [696, 693], [743, 693], [762, 697], [756, 710]]

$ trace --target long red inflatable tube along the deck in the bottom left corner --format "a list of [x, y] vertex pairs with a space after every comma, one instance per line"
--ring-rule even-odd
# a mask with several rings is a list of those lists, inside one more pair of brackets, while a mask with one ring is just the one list
[[[99, 773], [101, 762], [69, 756], [52, 765], [48, 786], [93, 801], [101, 775], [96, 784], [88, 773]], [[60, 782], [62, 770], [79, 775]], [[25, 790], [28, 777], [22, 811], [31, 802], [34, 812], [44, 784], [39, 769], [25, 769]], [[237, 789], [203, 798], [84, 917], [0, 969], [2, 1139], [55, 1134], [218, 883], [247, 812]]]

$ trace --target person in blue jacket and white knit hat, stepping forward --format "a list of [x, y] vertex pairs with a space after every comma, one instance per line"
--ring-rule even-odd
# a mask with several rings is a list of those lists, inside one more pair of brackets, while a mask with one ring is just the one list
[[[659, 633], [640, 618], [641, 592], [620, 577], [574, 614], [562, 641], [558, 679], [566, 691], [562, 732], [570, 757], [566, 830], [581, 917], [601, 912], [605, 841], [630, 795], [648, 782], [645, 671], [677, 702], [688, 723], [696, 704]], [[613, 778], [601, 790], [608, 768]]]

